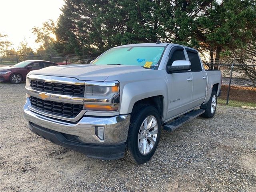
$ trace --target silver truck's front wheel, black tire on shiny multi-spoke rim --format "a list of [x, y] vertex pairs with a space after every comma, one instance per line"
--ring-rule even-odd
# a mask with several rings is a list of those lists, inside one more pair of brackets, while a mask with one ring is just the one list
[[[146, 118], [148, 122], [152, 120], [152, 124], [149, 123], [152, 128], [150, 128], [151, 126], [147, 127], [149, 130], [145, 130], [144, 126], [142, 126], [142, 124], [146, 125]], [[134, 164], [143, 164], [150, 160], [158, 146], [160, 129], [161, 120], [156, 108], [145, 104], [135, 106], [131, 114], [124, 159]], [[139, 145], [141, 146], [140, 148]]]

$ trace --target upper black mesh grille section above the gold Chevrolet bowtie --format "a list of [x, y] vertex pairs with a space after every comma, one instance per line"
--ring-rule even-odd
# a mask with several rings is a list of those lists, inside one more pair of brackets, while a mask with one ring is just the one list
[[84, 85], [68, 85], [30, 80], [30, 86], [37, 91], [84, 97]]

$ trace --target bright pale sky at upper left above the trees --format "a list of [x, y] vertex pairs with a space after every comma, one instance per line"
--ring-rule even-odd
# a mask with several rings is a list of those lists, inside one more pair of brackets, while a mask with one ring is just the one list
[[36, 50], [39, 45], [31, 29], [49, 19], [56, 22], [63, 4], [63, 0], [0, 0], [0, 32], [8, 35], [13, 48], [26, 39], [28, 46]]

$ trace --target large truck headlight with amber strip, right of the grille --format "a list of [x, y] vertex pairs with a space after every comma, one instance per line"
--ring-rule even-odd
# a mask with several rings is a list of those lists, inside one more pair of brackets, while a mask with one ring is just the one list
[[117, 111], [119, 98], [119, 82], [85, 82], [85, 110]]

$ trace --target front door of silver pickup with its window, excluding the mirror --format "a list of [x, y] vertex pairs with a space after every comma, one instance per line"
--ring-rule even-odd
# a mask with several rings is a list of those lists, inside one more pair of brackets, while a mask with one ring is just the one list
[[[181, 46], [174, 46], [169, 53], [168, 65], [176, 60], [186, 60], [185, 50]], [[186, 112], [191, 108], [192, 102], [192, 74], [189, 70], [168, 73], [168, 112], [166, 119]]]

